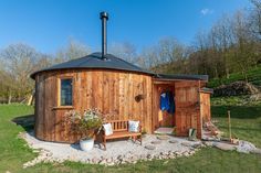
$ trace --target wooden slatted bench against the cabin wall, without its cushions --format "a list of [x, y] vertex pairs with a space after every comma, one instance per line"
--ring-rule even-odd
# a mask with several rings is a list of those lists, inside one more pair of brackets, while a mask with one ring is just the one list
[[113, 128], [113, 134], [105, 136], [105, 131], [103, 130], [103, 145], [106, 150], [106, 141], [111, 139], [119, 139], [119, 138], [130, 138], [134, 141], [139, 141], [142, 144], [142, 126], [139, 121], [138, 132], [129, 132], [128, 131], [128, 120], [112, 120], [106, 123], [111, 123]]

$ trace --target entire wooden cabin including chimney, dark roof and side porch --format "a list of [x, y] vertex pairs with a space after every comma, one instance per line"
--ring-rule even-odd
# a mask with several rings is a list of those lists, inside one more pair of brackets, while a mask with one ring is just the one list
[[[107, 15], [101, 14], [101, 19]], [[103, 25], [103, 43], [105, 40]], [[105, 32], [105, 34], [104, 34]], [[210, 119], [210, 94], [206, 75], [163, 75], [143, 69], [106, 53], [72, 60], [31, 75], [35, 80], [35, 137], [45, 141], [75, 142], [79, 136], [63, 123], [70, 110], [98, 108], [109, 120], [140, 120], [147, 133], [176, 127], [177, 136]], [[160, 109], [163, 93], [171, 93], [175, 112]]]

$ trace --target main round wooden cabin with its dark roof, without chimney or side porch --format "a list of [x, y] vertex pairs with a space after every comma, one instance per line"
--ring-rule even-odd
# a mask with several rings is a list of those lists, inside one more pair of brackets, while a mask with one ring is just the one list
[[[111, 54], [94, 53], [32, 75], [35, 79], [35, 137], [75, 142], [64, 113], [98, 108], [113, 120], [140, 120], [152, 132], [152, 75]], [[137, 99], [138, 96], [144, 99]]]

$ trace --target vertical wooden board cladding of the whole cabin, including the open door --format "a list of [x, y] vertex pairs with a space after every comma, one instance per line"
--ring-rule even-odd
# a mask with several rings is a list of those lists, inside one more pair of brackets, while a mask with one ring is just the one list
[[[60, 79], [73, 79], [73, 106], [59, 106]], [[177, 136], [197, 129], [201, 138], [202, 120], [210, 120], [210, 95], [199, 93], [199, 80], [158, 80], [140, 73], [108, 69], [63, 69], [35, 75], [35, 137], [45, 141], [76, 142], [80, 136], [63, 123], [66, 111], [83, 112], [98, 108], [107, 120], [140, 120], [147, 133], [159, 126], [176, 126]], [[160, 89], [161, 88], [161, 89]], [[159, 125], [159, 95], [175, 93], [175, 116], [163, 113]], [[137, 100], [137, 96], [143, 99]]]

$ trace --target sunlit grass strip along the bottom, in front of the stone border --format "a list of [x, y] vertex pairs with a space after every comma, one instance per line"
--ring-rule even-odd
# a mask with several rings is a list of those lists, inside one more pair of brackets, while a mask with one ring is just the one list
[[254, 154], [239, 154], [237, 152], [223, 152], [218, 149], [203, 149], [190, 158], [179, 158], [176, 160], [139, 162], [137, 164], [121, 166], [101, 166], [81, 163], [66, 162], [60, 165], [38, 164], [33, 169], [24, 172], [260, 172], [261, 156]]

